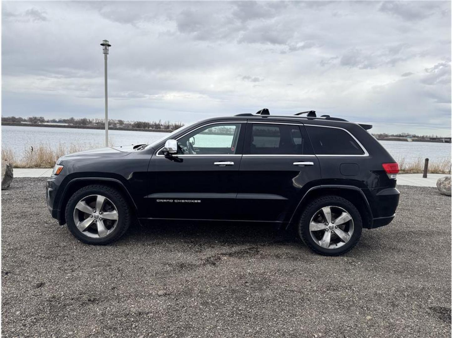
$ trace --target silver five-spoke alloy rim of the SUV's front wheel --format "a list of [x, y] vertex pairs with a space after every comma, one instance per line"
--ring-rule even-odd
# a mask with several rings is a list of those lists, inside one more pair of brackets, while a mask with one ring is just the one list
[[75, 205], [74, 222], [83, 235], [103, 238], [118, 225], [118, 209], [105, 196], [89, 195]]

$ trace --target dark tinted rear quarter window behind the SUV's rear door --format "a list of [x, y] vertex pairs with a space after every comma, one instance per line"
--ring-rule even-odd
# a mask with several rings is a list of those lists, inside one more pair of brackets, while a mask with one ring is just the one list
[[306, 126], [315, 155], [364, 155], [347, 131], [338, 128]]

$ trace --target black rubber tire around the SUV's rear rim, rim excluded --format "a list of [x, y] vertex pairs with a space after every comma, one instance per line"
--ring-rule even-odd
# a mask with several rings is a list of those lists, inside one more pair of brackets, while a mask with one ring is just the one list
[[[353, 219], [353, 228], [354, 228], [353, 234], [351, 235], [348, 242], [346, 242], [337, 249], [329, 249], [320, 246], [311, 237], [311, 231], [309, 229], [311, 219], [316, 215], [317, 211], [319, 211], [323, 207], [328, 206], [334, 206], [344, 209], [350, 214], [350, 216], [352, 216]], [[320, 253], [325, 256], [338, 256], [353, 249], [353, 247], [356, 244], [358, 244], [362, 230], [363, 230], [363, 220], [358, 209], [353, 205], [352, 202], [346, 200], [343, 197], [335, 195], [318, 197], [312, 202], [310, 202], [306, 206], [304, 211], [301, 213], [300, 222], [298, 224], [298, 234], [300, 235], [300, 238], [303, 241], [303, 243], [305, 243], [306, 246], [309, 247], [315, 253]]]

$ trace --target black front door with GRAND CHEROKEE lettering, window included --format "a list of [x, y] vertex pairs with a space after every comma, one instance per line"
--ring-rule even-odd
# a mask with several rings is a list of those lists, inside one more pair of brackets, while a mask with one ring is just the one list
[[180, 136], [177, 155], [165, 157], [157, 150], [148, 173], [148, 217], [235, 219], [245, 125], [209, 123]]

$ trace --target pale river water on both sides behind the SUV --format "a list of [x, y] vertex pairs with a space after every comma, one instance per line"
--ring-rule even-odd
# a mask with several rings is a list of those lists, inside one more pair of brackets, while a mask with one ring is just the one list
[[[104, 145], [104, 130], [49, 127], [1, 127], [1, 147], [11, 149], [20, 159], [25, 148], [49, 146], [56, 149], [60, 144], [69, 149], [75, 145], [80, 149], [92, 149]], [[167, 135], [163, 132], [109, 130], [110, 144], [114, 146], [151, 143]], [[395, 160], [405, 158], [413, 162], [419, 158], [429, 158], [430, 162], [450, 160], [450, 143], [380, 141]]]

